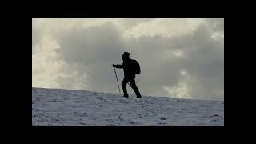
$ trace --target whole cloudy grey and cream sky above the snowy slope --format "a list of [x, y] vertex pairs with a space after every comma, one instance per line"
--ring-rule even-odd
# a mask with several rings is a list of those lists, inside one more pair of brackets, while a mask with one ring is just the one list
[[224, 18], [33, 18], [32, 86], [118, 93], [124, 51], [142, 94], [224, 100]]

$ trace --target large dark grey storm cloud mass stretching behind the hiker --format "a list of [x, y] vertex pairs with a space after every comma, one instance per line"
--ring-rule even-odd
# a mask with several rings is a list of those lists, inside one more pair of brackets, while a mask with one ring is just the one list
[[[214, 30], [219, 31], [224, 29], [223, 21], [208, 23], [218, 23], [214, 24]], [[129, 25], [134, 26], [135, 23]], [[137, 78], [142, 94], [168, 95], [161, 86], [177, 86], [180, 70], [186, 70], [196, 79], [187, 82], [192, 98], [223, 99], [222, 93], [216, 94], [216, 91], [224, 90], [223, 44], [214, 41], [211, 34], [212, 31], [202, 24], [182, 37], [162, 38], [156, 35], [126, 40], [114, 24], [107, 22], [86, 29], [76, 27], [58, 35], [61, 49], [57, 52], [64, 62], [75, 66], [78, 74], [86, 72], [90, 90], [116, 92], [111, 65], [122, 63], [122, 53], [126, 50], [131, 53], [131, 58], [138, 59], [142, 67], [142, 74]], [[183, 55], [176, 57], [173, 54], [175, 50], [181, 50]], [[119, 81], [122, 80], [121, 72], [118, 70]], [[68, 86], [68, 82], [65, 85]]]

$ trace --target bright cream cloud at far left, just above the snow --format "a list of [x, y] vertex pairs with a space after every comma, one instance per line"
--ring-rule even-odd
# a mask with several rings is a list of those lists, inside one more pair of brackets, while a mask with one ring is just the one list
[[74, 66], [63, 62], [58, 43], [50, 36], [43, 35], [32, 54], [32, 83], [37, 87], [86, 89], [86, 73], [78, 75]]

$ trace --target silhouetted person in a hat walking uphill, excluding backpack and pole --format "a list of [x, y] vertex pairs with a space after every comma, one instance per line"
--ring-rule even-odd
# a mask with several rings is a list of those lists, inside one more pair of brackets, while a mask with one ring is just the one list
[[138, 87], [135, 84], [135, 72], [134, 72], [134, 64], [137, 62], [134, 59], [130, 59], [130, 53], [124, 52], [122, 54], [122, 64], [121, 65], [114, 65], [113, 67], [123, 69], [124, 72], [124, 78], [122, 80], [122, 90], [123, 90], [123, 96], [128, 98], [128, 93], [126, 90], [126, 84], [130, 82], [130, 87], [133, 88], [135, 94], [137, 95], [137, 98], [142, 98], [141, 94], [138, 91]]

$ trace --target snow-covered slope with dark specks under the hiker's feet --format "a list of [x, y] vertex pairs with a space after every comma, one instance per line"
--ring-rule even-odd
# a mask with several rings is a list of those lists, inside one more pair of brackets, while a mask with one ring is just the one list
[[224, 126], [224, 102], [32, 88], [32, 126]]

